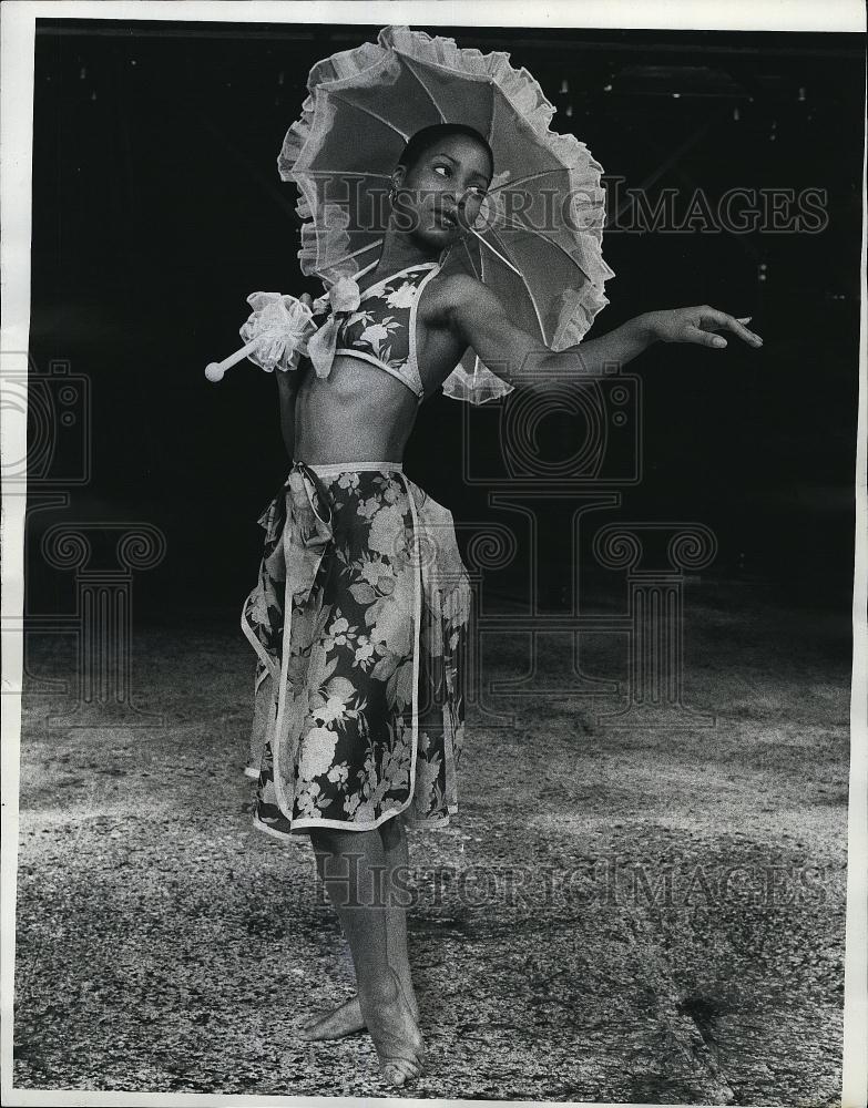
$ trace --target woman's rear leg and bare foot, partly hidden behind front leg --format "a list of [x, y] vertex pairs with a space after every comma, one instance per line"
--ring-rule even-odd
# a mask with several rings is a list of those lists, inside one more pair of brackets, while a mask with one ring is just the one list
[[[362, 832], [365, 833], [365, 832]], [[410, 963], [407, 954], [407, 893], [404, 891], [409, 872], [407, 832], [400, 817], [380, 824], [382, 842], [384, 890], [386, 892], [386, 950], [389, 965], [401, 985], [405, 999], [418, 1022], [419, 1008], [412, 987]], [[377, 863], [379, 864], [379, 862]], [[397, 878], [397, 882], [396, 882]], [[334, 1012], [314, 1017], [300, 1030], [302, 1038], [310, 1042], [341, 1038], [365, 1028], [358, 996], [351, 996]]]

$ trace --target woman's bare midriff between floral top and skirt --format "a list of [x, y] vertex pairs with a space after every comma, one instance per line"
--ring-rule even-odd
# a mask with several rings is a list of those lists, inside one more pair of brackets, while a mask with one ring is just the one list
[[360, 358], [336, 355], [326, 378], [308, 366], [295, 402], [296, 461], [400, 462], [418, 408], [406, 384]]

